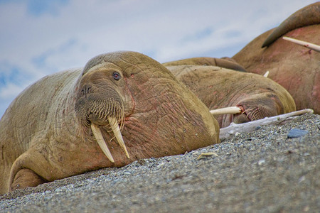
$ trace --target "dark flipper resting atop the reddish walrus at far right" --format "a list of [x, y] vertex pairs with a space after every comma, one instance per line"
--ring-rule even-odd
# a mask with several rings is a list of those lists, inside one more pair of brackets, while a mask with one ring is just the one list
[[261, 48], [271, 45], [285, 33], [304, 26], [320, 23], [320, 1], [305, 6], [284, 20], [265, 40]]

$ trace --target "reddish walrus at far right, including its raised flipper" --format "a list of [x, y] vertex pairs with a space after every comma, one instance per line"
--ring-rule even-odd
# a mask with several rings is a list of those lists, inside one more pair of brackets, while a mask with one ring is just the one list
[[[288, 90], [297, 109], [320, 114], [320, 53], [282, 39], [282, 36], [320, 44], [320, 2], [300, 9], [277, 28], [262, 33], [233, 59], [248, 72], [269, 77]], [[263, 48], [261, 48], [263, 47]]]

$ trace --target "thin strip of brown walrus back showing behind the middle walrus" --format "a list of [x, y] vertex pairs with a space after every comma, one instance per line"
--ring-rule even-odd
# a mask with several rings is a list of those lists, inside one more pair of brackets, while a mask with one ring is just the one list
[[176, 60], [171, 62], [165, 62], [162, 65], [178, 66], [178, 65], [203, 65], [203, 66], [217, 66], [223, 67], [230, 70], [238, 70], [240, 72], [247, 72], [244, 67], [239, 65], [232, 58], [210, 58], [210, 57], [198, 57], [198, 58], [186, 58], [183, 60]]

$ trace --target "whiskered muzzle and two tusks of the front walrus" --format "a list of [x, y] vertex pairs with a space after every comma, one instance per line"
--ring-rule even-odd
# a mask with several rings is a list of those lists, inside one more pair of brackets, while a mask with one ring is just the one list
[[91, 97], [80, 97], [75, 103], [75, 113], [78, 124], [81, 126], [80, 134], [82, 138], [88, 136], [91, 129], [103, 153], [114, 163], [114, 159], [100, 130], [100, 126], [110, 127], [119, 146], [121, 146], [125, 155], [129, 158], [129, 153], [121, 134], [121, 129], [124, 125], [124, 104], [122, 100], [114, 98], [117, 96], [107, 99], [97, 98], [96, 96], [93, 94]]

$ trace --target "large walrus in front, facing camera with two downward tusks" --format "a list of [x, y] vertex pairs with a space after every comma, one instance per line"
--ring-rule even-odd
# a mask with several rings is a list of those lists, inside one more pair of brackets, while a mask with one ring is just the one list
[[163, 65], [98, 55], [26, 88], [0, 121], [0, 192], [219, 143], [215, 118]]

